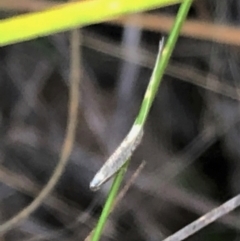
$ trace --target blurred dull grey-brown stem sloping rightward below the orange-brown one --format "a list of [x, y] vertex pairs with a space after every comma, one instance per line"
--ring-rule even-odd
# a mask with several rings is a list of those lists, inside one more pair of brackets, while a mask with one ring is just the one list
[[[83, 39], [83, 45], [87, 48], [94, 49], [96, 51], [119, 59], [126, 59], [126, 53], [123, 53], [123, 51], [121, 51], [121, 47], [117, 46], [116, 43], [110, 43], [99, 35], [85, 34]], [[141, 51], [139, 51], [137, 59], [131, 57], [130, 59], [128, 59], [128, 61], [152, 69], [154, 59], [154, 54], [152, 54], [147, 49], [142, 49]], [[240, 92], [239, 88], [236, 89], [236, 87], [220, 82], [218, 80], [218, 77], [213, 74], [209, 74], [208, 81], [206, 81], [206, 73], [192, 66], [190, 67], [186, 64], [174, 63], [172, 61], [167, 67], [166, 75], [213, 91], [228, 98], [238, 101], [240, 100], [240, 97], [236, 93], [236, 90]], [[225, 82], [229, 83], [229, 81], [227, 80]]]

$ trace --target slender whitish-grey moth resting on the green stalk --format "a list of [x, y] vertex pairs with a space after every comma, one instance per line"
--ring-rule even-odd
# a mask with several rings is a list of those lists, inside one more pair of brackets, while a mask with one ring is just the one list
[[109, 157], [102, 168], [94, 176], [90, 183], [93, 191], [98, 190], [102, 184], [109, 180], [126, 163], [140, 144], [143, 137], [142, 125], [135, 124], [118, 146], [115, 152]]

